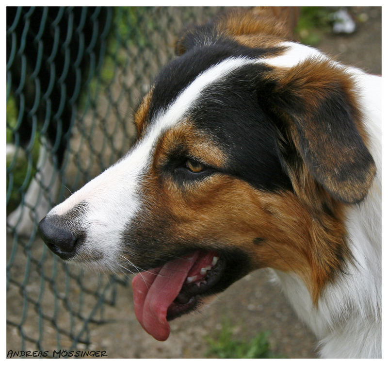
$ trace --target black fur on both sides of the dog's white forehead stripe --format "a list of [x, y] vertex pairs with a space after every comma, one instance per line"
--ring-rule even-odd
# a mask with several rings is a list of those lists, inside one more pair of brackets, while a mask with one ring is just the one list
[[[182, 56], [165, 66], [153, 86], [148, 122], [174, 102], [202, 72], [230, 57], [257, 59], [281, 48], [254, 49], [214, 32], [211, 24], [191, 31]], [[211, 135], [229, 156], [221, 172], [267, 190], [292, 189], [284, 173], [273, 123], [260, 108], [259, 75], [267, 66], [244, 66], [202, 92], [190, 111], [197, 128]]]

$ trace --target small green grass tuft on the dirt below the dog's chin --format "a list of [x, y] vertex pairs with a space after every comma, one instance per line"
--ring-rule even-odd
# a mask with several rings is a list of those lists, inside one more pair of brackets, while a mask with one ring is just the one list
[[207, 357], [220, 359], [270, 359], [279, 358], [270, 348], [268, 341], [269, 332], [260, 332], [249, 342], [233, 338], [233, 328], [229, 320], [224, 320], [220, 332], [213, 336], [206, 336], [209, 343]]

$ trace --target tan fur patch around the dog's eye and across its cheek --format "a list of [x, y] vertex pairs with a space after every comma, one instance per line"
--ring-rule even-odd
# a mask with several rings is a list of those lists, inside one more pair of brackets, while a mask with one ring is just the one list
[[[195, 153], [202, 150], [206, 161], [210, 158], [219, 166], [225, 159], [208, 138], [200, 136], [198, 142], [188, 123], [184, 129], [189, 132], [180, 127], [163, 136], [154, 168], [143, 183], [147, 206], [143, 236], [155, 237], [155, 231], [163, 227], [163, 241], [168, 245], [158, 249], [166, 252], [179, 251], [182, 242], [205, 245], [202, 248], [208, 250], [242, 249], [250, 257], [251, 269], [272, 267], [297, 273], [317, 302], [324, 285], [349, 256], [342, 217], [314, 210], [292, 193], [262, 192], [226, 175], [178, 185], [171, 177], [161, 175], [158, 167], [175, 143], [191, 141]], [[323, 196], [330, 200], [315, 191], [315, 199]], [[131, 254], [136, 256], [136, 252]]]

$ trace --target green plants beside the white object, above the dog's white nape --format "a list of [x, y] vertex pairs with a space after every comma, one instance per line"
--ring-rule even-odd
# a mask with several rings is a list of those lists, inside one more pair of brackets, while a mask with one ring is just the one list
[[323, 33], [330, 31], [333, 8], [324, 6], [304, 6], [301, 8], [298, 25], [295, 29], [302, 43], [317, 45]]

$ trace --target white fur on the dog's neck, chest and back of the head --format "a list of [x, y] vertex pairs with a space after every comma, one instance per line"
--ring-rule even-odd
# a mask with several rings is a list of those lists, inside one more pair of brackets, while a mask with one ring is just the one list
[[[285, 55], [266, 63], [291, 67], [305, 58], [322, 56], [319, 51], [296, 44]], [[346, 210], [348, 244], [355, 263], [348, 263], [347, 275], [327, 285], [318, 307], [313, 306], [300, 278], [274, 272], [297, 315], [319, 338], [321, 357], [378, 358], [381, 357], [381, 78], [354, 67], [346, 67], [346, 71], [356, 83], [364, 126], [370, 137], [368, 147], [377, 167], [367, 197]]]

